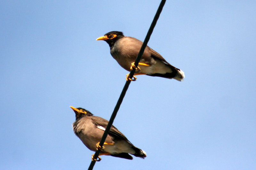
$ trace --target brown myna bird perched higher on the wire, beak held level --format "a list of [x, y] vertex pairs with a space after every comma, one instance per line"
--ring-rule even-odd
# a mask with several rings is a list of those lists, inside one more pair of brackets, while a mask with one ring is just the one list
[[[139, 65], [136, 68], [134, 62], [143, 42], [133, 37], [126, 37], [122, 32], [111, 31], [96, 40], [106, 41], [110, 47], [112, 57], [125, 70], [130, 71], [132, 68], [135, 68], [134, 75], [146, 74], [148, 76], [174, 78], [178, 81], [185, 78], [182, 70], [173, 67], [160, 54], [148, 46], [145, 48]], [[127, 79], [131, 80], [129, 74], [126, 75]], [[132, 80], [136, 80], [136, 77]]]

